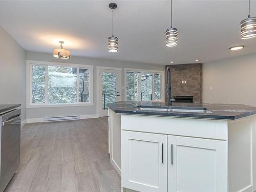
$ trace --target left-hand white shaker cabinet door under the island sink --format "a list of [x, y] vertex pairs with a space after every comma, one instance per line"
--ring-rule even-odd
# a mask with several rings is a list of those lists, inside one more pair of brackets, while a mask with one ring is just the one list
[[167, 191], [167, 136], [122, 131], [122, 187]]

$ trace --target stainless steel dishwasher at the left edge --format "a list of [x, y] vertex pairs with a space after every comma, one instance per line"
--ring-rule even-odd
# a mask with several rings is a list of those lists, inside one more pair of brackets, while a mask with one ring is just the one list
[[0, 114], [0, 191], [3, 192], [19, 165], [20, 109]]

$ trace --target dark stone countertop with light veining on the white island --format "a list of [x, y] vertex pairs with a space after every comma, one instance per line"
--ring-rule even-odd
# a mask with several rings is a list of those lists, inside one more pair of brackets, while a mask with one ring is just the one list
[[185, 108], [206, 108], [211, 113], [193, 113], [193, 112], [164, 112], [164, 111], [148, 111], [136, 110], [136, 106], [157, 106], [164, 108], [168, 104], [165, 102], [151, 101], [119, 101], [108, 104], [109, 108], [115, 113], [122, 114], [138, 114], [138, 115], [155, 115], [155, 116], [170, 116], [170, 117], [191, 117], [204, 119], [239, 119], [249, 115], [256, 114], [256, 108], [244, 104], [211, 104], [211, 103], [173, 103], [175, 107]]

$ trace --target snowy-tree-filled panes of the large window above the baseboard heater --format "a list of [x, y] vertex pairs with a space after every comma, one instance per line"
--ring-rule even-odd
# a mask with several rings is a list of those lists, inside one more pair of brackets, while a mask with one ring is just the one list
[[92, 104], [92, 66], [29, 63], [30, 106]]

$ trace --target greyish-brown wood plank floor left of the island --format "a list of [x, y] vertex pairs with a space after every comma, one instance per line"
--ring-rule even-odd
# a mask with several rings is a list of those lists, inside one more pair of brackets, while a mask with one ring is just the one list
[[96, 118], [26, 124], [20, 166], [5, 192], [120, 192], [106, 123], [106, 118]]

